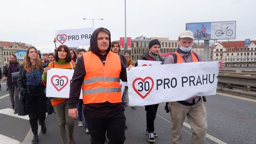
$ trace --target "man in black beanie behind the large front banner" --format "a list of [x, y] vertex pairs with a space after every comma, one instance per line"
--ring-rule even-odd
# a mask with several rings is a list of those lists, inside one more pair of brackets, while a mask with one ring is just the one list
[[[140, 57], [140, 60], [152, 60], [163, 62], [163, 58], [160, 56], [159, 51], [161, 48], [161, 44], [158, 39], [153, 39], [149, 42], [149, 50], [145, 52], [145, 54]], [[137, 63], [135, 64], [137, 65]], [[146, 133], [148, 134], [148, 141], [155, 142], [155, 137], [157, 137], [157, 133], [155, 133], [154, 121], [155, 116], [157, 114], [157, 108], [159, 104], [154, 105], [145, 105], [146, 110], [146, 121], [147, 121], [147, 129]]]

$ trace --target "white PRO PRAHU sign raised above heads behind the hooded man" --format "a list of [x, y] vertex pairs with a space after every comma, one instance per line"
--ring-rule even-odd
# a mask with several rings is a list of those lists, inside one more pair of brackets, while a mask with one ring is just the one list
[[82, 46], [90, 45], [90, 38], [95, 28], [80, 28], [72, 30], [56, 30], [56, 46]]

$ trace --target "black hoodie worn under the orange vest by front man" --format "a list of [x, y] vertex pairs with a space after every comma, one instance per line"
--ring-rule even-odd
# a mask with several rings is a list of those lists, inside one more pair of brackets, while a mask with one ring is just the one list
[[[97, 28], [93, 33], [92, 37], [90, 39], [90, 50], [93, 54], [96, 54], [101, 62], [105, 65], [105, 60], [107, 57], [108, 52], [111, 49], [111, 40], [110, 40], [110, 34], [109, 34], [109, 46], [107, 49], [107, 53], [105, 55], [101, 55], [98, 50], [97, 46], [97, 35], [100, 30], [106, 29], [106, 28]], [[107, 30], [107, 29], [106, 29]], [[108, 30], [107, 30], [108, 31]], [[109, 31], [108, 31], [109, 32]], [[110, 33], [110, 32], [109, 32]], [[126, 77], [126, 65], [121, 61], [121, 72], [120, 72], [120, 79], [122, 81], [127, 81]], [[86, 71], [84, 68], [84, 58], [81, 57], [77, 61], [77, 65], [75, 66], [75, 71], [72, 77], [72, 83], [70, 85], [70, 91], [69, 91], [69, 99], [68, 99], [68, 105], [69, 109], [77, 108], [77, 102], [80, 96], [80, 90], [78, 90], [79, 87], [82, 87], [84, 76], [86, 75]], [[120, 103], [110, 103], [110, 102], [103, 102], [103, 103], [93, 103], [93, 104], [85, 104], [84, 109], [95, 111], [99, 113], [107, 113], [110, 111], [115, 111], [117, 108], [123, 108], [122, 102]]]

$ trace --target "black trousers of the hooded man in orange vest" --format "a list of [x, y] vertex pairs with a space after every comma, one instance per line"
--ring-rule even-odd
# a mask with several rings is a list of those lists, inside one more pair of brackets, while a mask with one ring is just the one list
[[91, 144], [104, 144], [105, 134], [110, 144], [123, 144], [125, 141], [125, 115], [124, 108], [110, 113], [97, 113], [84, 110], [84, 117], [91, 136]]

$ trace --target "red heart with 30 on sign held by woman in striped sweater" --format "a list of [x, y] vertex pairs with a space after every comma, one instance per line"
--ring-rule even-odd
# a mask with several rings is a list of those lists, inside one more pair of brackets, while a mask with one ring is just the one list
[[68, 77], [66, 77], [65, 75], [54, 75], [51, 78], [51, 84], [53, 84], [53, 87], [59, 92], [68, 84]]

